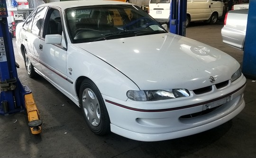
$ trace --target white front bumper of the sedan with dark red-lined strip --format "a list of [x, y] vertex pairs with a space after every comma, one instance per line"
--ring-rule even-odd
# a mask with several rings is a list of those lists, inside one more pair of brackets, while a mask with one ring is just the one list
[[[103, 96], [110, 116], [111, 131], [133, 140], [159, 141], [209, 130], [229, 121], [245, 107], [243, 92], [246, 87], [246, 79], [242, 75], [235, 82], [237, 83], [228, 88], [215, 89], [208, 94], [192, 95], [188, 99], [177, 101], [123, 102], [115, 98]], [[222, 95], [230, 94], [228, 96], [229, 100], [226, 103], [215, 107], [214, 110], [207, 114], [191, 118], [184, 117], [203, 111], [205, 102], [201, 98], [206, 97], [208, 100], [212, 100], [214, 97], [219, 98], [216, 96], [221, 96], [220, 93]], [[198, 101], [198, 104], [191, 104], [195, 101]], [[180, 108], [181, 106], [175, 108], [175, 105], [180, 105], [179, 103], [182, 103], [182, 107], [185, 108]], [[141, 109], [142, 106], [134, 104], [144, 104], [145, 109]], [[125, 105], [125, 107], [120, 105]], [[158, 110], [148, 109], [147, 105], [158, 107]], [[172, 106], [173, 108], [166, 109], [165, 105]], [[133, 108], [132, 106], [140, 108]]]

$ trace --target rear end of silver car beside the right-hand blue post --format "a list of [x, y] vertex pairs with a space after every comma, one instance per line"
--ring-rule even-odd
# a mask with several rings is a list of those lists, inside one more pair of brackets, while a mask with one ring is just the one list
[[225, 44], [244, 50], [248, 9], [230, 10], [224, 19], [221, 29], [222, 41]]

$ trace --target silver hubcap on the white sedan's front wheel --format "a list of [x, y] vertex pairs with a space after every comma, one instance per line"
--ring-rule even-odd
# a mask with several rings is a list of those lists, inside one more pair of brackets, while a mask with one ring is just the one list
[[84, 89], [82, 93], [82, 108], [91, 125], [98, 126], [101, 122], [100, 105], [97, 97], [90, 88]]

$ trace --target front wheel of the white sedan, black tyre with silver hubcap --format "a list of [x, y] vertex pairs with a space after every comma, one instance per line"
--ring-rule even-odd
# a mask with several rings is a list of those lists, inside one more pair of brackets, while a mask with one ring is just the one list
[[79, 103], [85, 122], [97, 135], [110, 132], [110, 118], [100, 90], [89, 79], [82, 81]]

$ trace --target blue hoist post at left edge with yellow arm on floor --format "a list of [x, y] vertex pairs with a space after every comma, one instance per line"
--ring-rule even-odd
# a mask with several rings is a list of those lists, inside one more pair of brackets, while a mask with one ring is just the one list
[[22, 112], [27, 108], [28, 125], [32, 134], [38, 134], [42, 121], [31, 90], [18, 79], [19, 65], [15, 61], [7, 17], [6, 0], [0, 0], [0, 114]]

